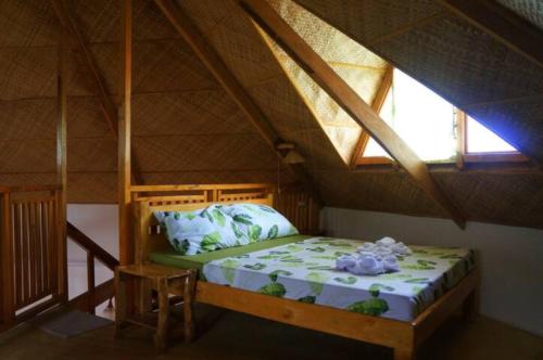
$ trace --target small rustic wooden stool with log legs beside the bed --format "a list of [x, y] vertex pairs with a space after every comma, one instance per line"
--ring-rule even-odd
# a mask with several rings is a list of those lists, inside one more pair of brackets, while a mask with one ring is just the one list
[[[190, 342], [194, 334], [192, 320], [192, 299], [195, 285], [195, 270], [182, 270], [161, 267], [157, 265], [129, 265], [115, 269], [115, 336], [126, 323], [141, 325], [155, 330], [154, 344], [164, 349], [171, 323], [169, 294], [182, 296], [184, 336]], [[128, 314], [127, 282], [135, 281], [139, 287], [139, 309], [135, 314]], [[151, 291], [159, 294], [159, 313], [151, 311]], [[130, 311], [131, 312], [131, 311]]]

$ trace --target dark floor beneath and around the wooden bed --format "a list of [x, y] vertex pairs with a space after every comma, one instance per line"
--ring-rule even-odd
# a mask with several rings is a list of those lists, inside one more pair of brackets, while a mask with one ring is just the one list
[[[241, 313], [199, 308], [197, 314], [201, 336], [189, 345], [174, 342], [165, 353], [156, 353], [151, 333], [137, 327], [117, 340], [112, 326], [65, 340], [23, 325], [0, 336], [0, 359], [392, 359], [387, 348]], [[471, 324], [454, 318], [426, 343], [419, 359], [542, 360], [543, 338], [483, 317]]]

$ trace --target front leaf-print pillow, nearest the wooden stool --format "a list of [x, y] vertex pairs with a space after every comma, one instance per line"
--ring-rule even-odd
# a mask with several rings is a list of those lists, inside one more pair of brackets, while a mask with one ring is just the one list
[[222, 205], [211, 205], [193, 211], [156, 211], [174, 248], [184, 255], [197, 255], [220, 248], [249, 244], [240, 226]]

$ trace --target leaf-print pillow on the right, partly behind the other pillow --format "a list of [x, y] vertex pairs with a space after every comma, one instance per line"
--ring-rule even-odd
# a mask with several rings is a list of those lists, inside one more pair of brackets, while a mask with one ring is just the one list
[[266, 205], [233, 204], [225, 206], [224, 211], [244, 229], [252, 243], [299, 233], [286, 217]]

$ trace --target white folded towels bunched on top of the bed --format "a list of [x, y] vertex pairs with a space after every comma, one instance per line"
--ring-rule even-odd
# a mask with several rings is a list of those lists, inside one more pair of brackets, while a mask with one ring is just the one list
[[343, 255], [336, 259], [338, 270], [357, 275], [378, 275], [400, 271], [396, 256], [413, 254], [412, 249], [392, 237], [383, 237], [375, 243], [364, 243], [357, 248], [358, 256]]

